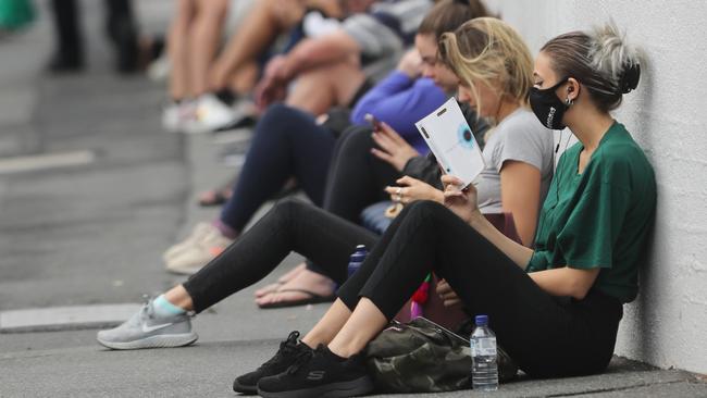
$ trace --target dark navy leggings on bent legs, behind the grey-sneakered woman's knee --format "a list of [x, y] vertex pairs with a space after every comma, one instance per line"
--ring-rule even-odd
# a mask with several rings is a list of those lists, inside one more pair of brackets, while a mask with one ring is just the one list
[[335, 141], [332, 132], [314, 123], [312, 115], [283, 104], [270, 107], [256, 126], [221, 221], [243, 232], [256, 211], [293, 176], [309, 199], [321, 206]]

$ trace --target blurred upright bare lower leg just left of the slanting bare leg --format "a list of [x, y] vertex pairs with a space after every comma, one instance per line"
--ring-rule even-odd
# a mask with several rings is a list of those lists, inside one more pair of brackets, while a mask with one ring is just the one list
[[189, 34], [189, 76], [195, 96], [209, 88], [209, 67], [219, 48], [228, 0], [197, 0], [197, 16]]

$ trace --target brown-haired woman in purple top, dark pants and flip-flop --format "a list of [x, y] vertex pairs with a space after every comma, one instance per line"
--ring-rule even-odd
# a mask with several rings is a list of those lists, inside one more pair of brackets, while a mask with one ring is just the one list
[[[399, 71], [393, 72], [385, 82], [376, 86], [379, 89], [372, 90], [359, 101], [354, 109], [354, 116], [363, 117], [363, 114], [372, 109], [371, 113], [381, 120], [377, 103], [385, 102], [390, 95], [382, 88], [405, 87], [413, 82], [412, 73], [422, 73], [449, 95], [454, 94], [459, 79], [438, 61], [437, 40], [443, 33], [452, 32], [469, 20], [486, 15], [488, 13], [481, 1], [437, 2], [420, 24], [415, 35], [414, 43], [422, 61], [420, 71], [404, 67], [401, 62]], [[427, 96], [425, 91], [420, 91], [420, 95]], [[461, 102], [460, 107], [476, 139], [483, 146], [488, 124], [477, 117], [468, 103]], [[400, 185], [400, 199], [404, 202], [426, 198], [425, 194], [434, 191], [432, 187], [441, 189], [437, 162], [434, 157], [425, 156], [429, 148], [407, 142], [408, 135], [421, 141], [414, 122], [434, 109], [436, 107], [424, 111], [418, 119], [409, 119], [405, 129], [389, 123], [387, 119], [382, 119], [389, 125], [382, 126], [374, 135], [367, 126], [352, 126], [346, 130], [337, 140], [332, 156], [333, 163], [326, 179], [323, 209], [352, 223], [361, 223], [361, 212], [368, 206], [386, 199], [388, 195], [397, 198], [398, 187], [388, 187], [386, 192], [386, 186]], [[407, 116], [407, 112], [400, 114]], [[414, 195], [408, 195], [409, 192]], [[256, 303], [260, 308], [310, 303], [333, 297], [335, 287], [336, 284], [317, 264], [308, 260], [280, 277], [276, 283], [258, 289]]]

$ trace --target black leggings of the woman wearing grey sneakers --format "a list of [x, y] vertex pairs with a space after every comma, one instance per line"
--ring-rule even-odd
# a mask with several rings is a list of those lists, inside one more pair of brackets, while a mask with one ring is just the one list
[[265, 277], [292, 251], [325, 265], [322, 273], [343, 284], [356, 246], [370, 248], [377, 238], [372, 232], [314, 206], [286, 199], [189, 277], [184, 287], [195, 311], [201, 312]]

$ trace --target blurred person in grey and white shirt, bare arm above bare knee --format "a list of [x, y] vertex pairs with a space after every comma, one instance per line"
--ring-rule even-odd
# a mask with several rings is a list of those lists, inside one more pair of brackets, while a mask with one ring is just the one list
[[[357, 92], [371, 87], [361, 63], [401, 52], [433, 5], [431, 0], [371, 2], [368, 13], [347, 17], [328, 35], [303, 39], [275, 57], [256, 87], [261, 109], [277, 102], [310, 112], [351, 107]], [[290, 83], [295, 82], [292, 90]]]

